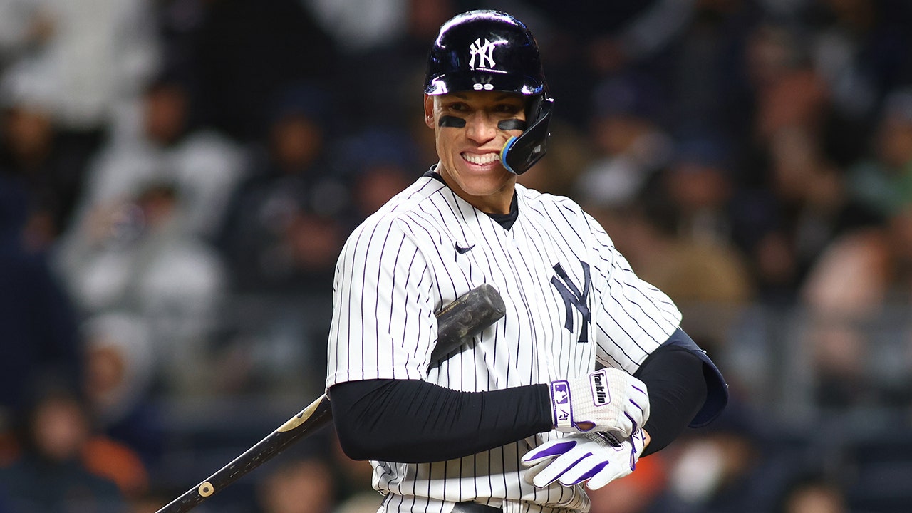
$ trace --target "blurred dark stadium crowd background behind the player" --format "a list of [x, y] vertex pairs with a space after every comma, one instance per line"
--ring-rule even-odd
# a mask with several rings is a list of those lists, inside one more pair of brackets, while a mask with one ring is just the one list
[[[521, 182], [596, 215], [731, 403], [594, 513], [912, 510], [905, 0], [0, 0], [0, 513], [154, 512], [323, 392], [347, 234], [436, 162], [440, 23], [520, 17]], [[373, 513], [332, 430], [202, 512]]]

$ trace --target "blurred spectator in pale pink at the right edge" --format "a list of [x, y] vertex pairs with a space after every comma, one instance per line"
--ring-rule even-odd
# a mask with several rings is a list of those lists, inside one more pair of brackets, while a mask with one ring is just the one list
[[912, 399], [902, 320], [912, 298], [912, 204], [894, 206], [883, 224], [836, 234], [799, 298], [808, 313], [800, 335], [814, 405], [845, 411]]

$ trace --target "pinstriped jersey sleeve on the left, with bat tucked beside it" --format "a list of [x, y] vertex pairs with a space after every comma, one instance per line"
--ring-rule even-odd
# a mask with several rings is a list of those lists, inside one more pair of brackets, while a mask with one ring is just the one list
[[408, 228], [380, 217], [349, 236], [337, 261], [326, 387], [426, 377], [436, 339], [432, 280]]

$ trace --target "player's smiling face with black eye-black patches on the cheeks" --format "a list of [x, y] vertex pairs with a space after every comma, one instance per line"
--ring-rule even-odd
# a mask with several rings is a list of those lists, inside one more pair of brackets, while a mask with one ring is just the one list
[[[424, 97], [427, 125], [434, 129], [437, 171], [456, 194], [489, 214], [507, 214], [516, 175], [501, 164], [503, 145], [523, 133], [525, 99], [499, 91]], [[502, 121], [508, 121], [502, 123]]]

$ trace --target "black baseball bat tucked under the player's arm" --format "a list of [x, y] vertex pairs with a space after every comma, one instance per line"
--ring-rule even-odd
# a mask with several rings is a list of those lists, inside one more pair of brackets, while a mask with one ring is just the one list
[[[505, 312], [503, 298], [495, 288], [487, 284], [472, 288], [440, 309], [435, 314], [437, 343], [430, 353], [430, 366], [450, 357], [463, 342], [503, 318]], [[281, 453], [285, 447], [306, 435], [316, 433], [326, 424], [332, 423], [332, 420], [329, 398], [323, 394], [231, 463], [184, 492], [181, 497], [172, 500], [157, 513], [183, 513], [195, 508], [203, 500]]]

